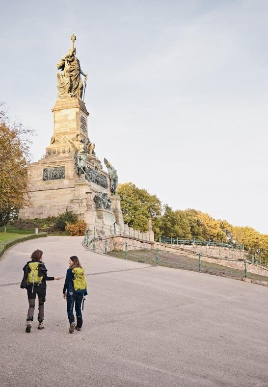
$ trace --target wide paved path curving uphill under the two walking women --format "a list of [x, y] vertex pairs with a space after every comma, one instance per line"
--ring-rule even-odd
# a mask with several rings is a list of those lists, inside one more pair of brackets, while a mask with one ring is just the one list
[[[0, 386], [268, 386], [267, 287], [106, 257], [81, 241], [34, 239], [0, 260]], [[36, 249], [50, 276], [65, 276], [71, 255], [81, 259], [81, 332], [68, 333], [61, 280], [48, 282], [45, 329], [35, 319], [25, 333], [19, 284]]]

